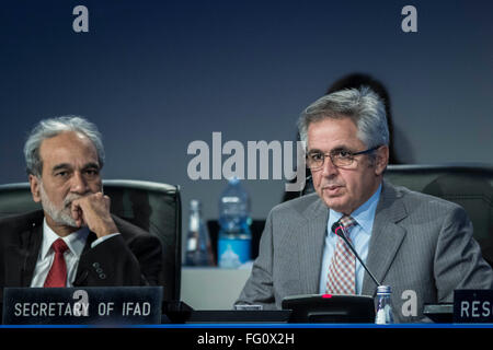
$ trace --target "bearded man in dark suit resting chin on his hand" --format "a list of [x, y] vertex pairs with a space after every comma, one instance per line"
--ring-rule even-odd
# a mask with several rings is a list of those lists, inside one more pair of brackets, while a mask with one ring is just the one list
[[96, 127], [81, 117], [41, 121], [24, 155], [43, 210], [0, 221], [0, 287], [159, 284], [158, 237], [110, 213]]

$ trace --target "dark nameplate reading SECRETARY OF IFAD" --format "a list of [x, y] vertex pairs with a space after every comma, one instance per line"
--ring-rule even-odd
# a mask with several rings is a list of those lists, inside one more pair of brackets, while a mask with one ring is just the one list
[[162, 287], [5, 288], [4, 325], [160, 324]]

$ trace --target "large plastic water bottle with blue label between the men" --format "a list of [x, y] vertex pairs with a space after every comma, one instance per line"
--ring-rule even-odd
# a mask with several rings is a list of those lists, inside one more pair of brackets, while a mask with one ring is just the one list
[[250, 197], [238, 178], [231, 178], [219, 199], [218, 265], [238, 268], [251, 258]]

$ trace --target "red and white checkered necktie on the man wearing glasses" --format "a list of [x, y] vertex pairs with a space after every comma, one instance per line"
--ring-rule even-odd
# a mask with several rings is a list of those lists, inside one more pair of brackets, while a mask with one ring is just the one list
[[[357, 222], [349, 215], [344, 215], [340, 223], [344, 226], [347, 241], [349, 238], [349, 230]], [[340, 229], [341, 230], [341, 229]], [[341, 230], [339, 234], [344, 234]], [[356, 294], [356, 259], [351, 248], [337, 235], [334, 255], [329, 266], [329, 275], [326, 279], [326, 293], [329, 294]]]

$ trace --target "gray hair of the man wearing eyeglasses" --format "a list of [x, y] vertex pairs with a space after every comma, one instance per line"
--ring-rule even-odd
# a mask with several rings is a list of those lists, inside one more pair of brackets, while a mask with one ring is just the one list
[[367, 148], [389, 144], [389, 126], [383, 102], [367, 86], [341, 90], [308, 106], [298, 120], [301, 141], [307, 142], [311, 122], [325, 118], [351, 118], [358, 129], [358, 139]]

